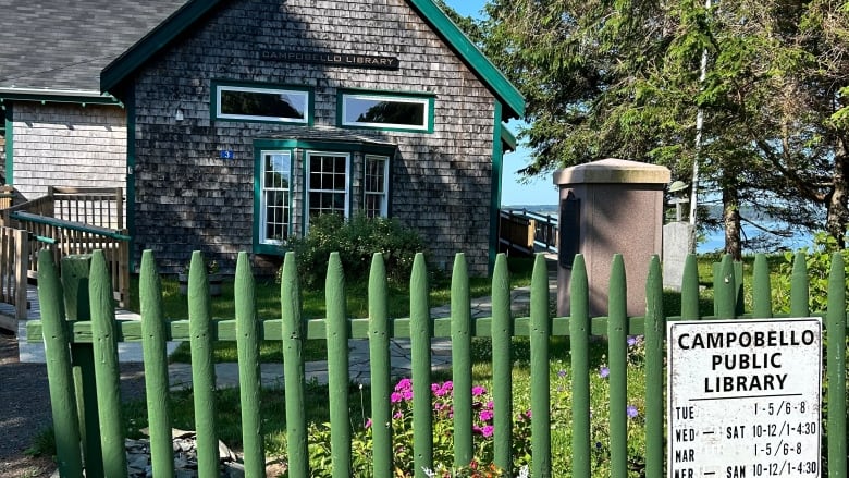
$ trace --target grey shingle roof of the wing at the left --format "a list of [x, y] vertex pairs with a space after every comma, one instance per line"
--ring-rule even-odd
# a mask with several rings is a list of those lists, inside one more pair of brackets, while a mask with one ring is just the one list
[[186, 0], [0, 0], [0, 88], [100, 91], [100, 71]]

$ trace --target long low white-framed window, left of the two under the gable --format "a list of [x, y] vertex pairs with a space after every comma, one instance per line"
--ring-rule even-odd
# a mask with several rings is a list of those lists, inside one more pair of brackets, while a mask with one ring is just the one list
[[311, 122], [311, 90], [213, 83], [213, 95], [212, 118], [216, 120], [295, 124]]

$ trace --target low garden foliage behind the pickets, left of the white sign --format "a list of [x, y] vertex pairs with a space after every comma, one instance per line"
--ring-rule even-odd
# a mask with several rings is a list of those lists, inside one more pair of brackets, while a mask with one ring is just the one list
[[[593, 347], [593, 354], [596, 358], [593, 363], [599, 364], [591, 371], [591, 439], [594, 444], [592, 448], [592, 473], [593, 476], [610, 475], [610, 396], [608, 378], [612, 371], [604, 361], [601, 342]], [[478, 352], [482, 347], [476, 347]], [[527, 353], [527, 351], [526, 351]], [[643, 383], [643, 363], [644, 363], [644, 341], [642, 336], [628, 338], [628, 363], [629, 381], [628, 393], [630, 404], [626, 408], [628, 420], [628, 459], [630, 473], [639, 476], [644, 473], [644, 417], [641, 410], [645, 408], [644, 383]], [[490, 354], [476, 359], [491, 358]], [[527, 356], [525, 357], [527, 359]], [[532, 414], [529, 409], [530, 403], [530, 378], [527, 376], [527, 363], [517, 360], [517, 367], [514, 372], [514, 422], [513, 422], [513, 469], [509, 476], [522, 476], [527, 469], [532, 468], [531, 456], [531, 421]], [[561, 450], [563, 453], [556, 453], [553, 458], [553, 469], [568, 469], [570, 467], [571, 454], [568, 451], [571, 448], [571, 388], [570, 370], [568, 365], [562, 360], [552, 361], [552, 369], [555, 370], [551, 377], [551, 422], [552, 422], [552, 448]], [[487, 380], [491, 380], [487, 378]], [[500, 477], [507, 476], [506, 470], [499, 469], [493, 465], [493, 442], [495, 430], [492, 427], [493, 402], [487, 385], [475, 385], [472, 388], [472, 409], [473, 409], [473, 459], [468, 466], [453, 468], [454, 463], [454, 441], [453, 441], [453, 382], [436, 382], [431, 385], [431, 413], [433, 414], [433, 463], [432, 470], [428, 470], [428, 476], [438, 478], [450, 477]], [[414, 474], [414, 448], [413, 448], [413, 382], [410, 379], [402, 379], [395, 385], [391, 396], [392, 402], [392, 440], [393, 457], [395, 469], [394, 477], [411, 477]], [[365, 409], [365, 407], [362, 407]], [[352, 439], [352, 459], [354, 473], [358, 477], [371, 476], [372, 463], [372, 433], [371, 420], [366, 419], [364, 425], [354, 427]], [[332, 476], [332, 462], [330, 450], [330, 424], [309, 426], [309, 453], [310, 468], [313, 476]], [[526, 475], [527, 476], [527, 475]]]

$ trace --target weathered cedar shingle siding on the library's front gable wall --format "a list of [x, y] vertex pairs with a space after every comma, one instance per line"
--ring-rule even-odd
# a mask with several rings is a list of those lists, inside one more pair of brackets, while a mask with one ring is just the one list
[[[212, 81], [263, 82], [315, 88], [319, 130], [336, 125], [339, 88], [434, 94], [432, 134], [349, 133], [397, 145], [390, 216], [427, 237], [435, 265], [450, 268], [464, 252], [470, 272], [485, 273], [493, 123], [501, 119], [492, 93], [404, 0], [223, 2], [198, 25], [134, 77], [136, 253], [151, 248], [163, 270], [173, 271], [193, 249], [218, 256], [224, 267], [250, 250], [254, 139], [316, 136], [309, 126], [210, 120]], [[259, 48], [398, 57], [401, 69], [262, 61]], [[222, 149], [235, 158], [219, 159]], [[295, 154], [299, 234], [304, 151]], [[360, 191], [358, 161], [361, 155], [353, 155], [352, 196]], [[256, 262], [270, 271], [267, 259]]]

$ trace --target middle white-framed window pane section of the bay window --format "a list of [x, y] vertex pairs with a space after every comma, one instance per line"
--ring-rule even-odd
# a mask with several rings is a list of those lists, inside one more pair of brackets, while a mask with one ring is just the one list
[[350, 155], [307, 151], [307, 224], [320, 215], [348, 217]]

